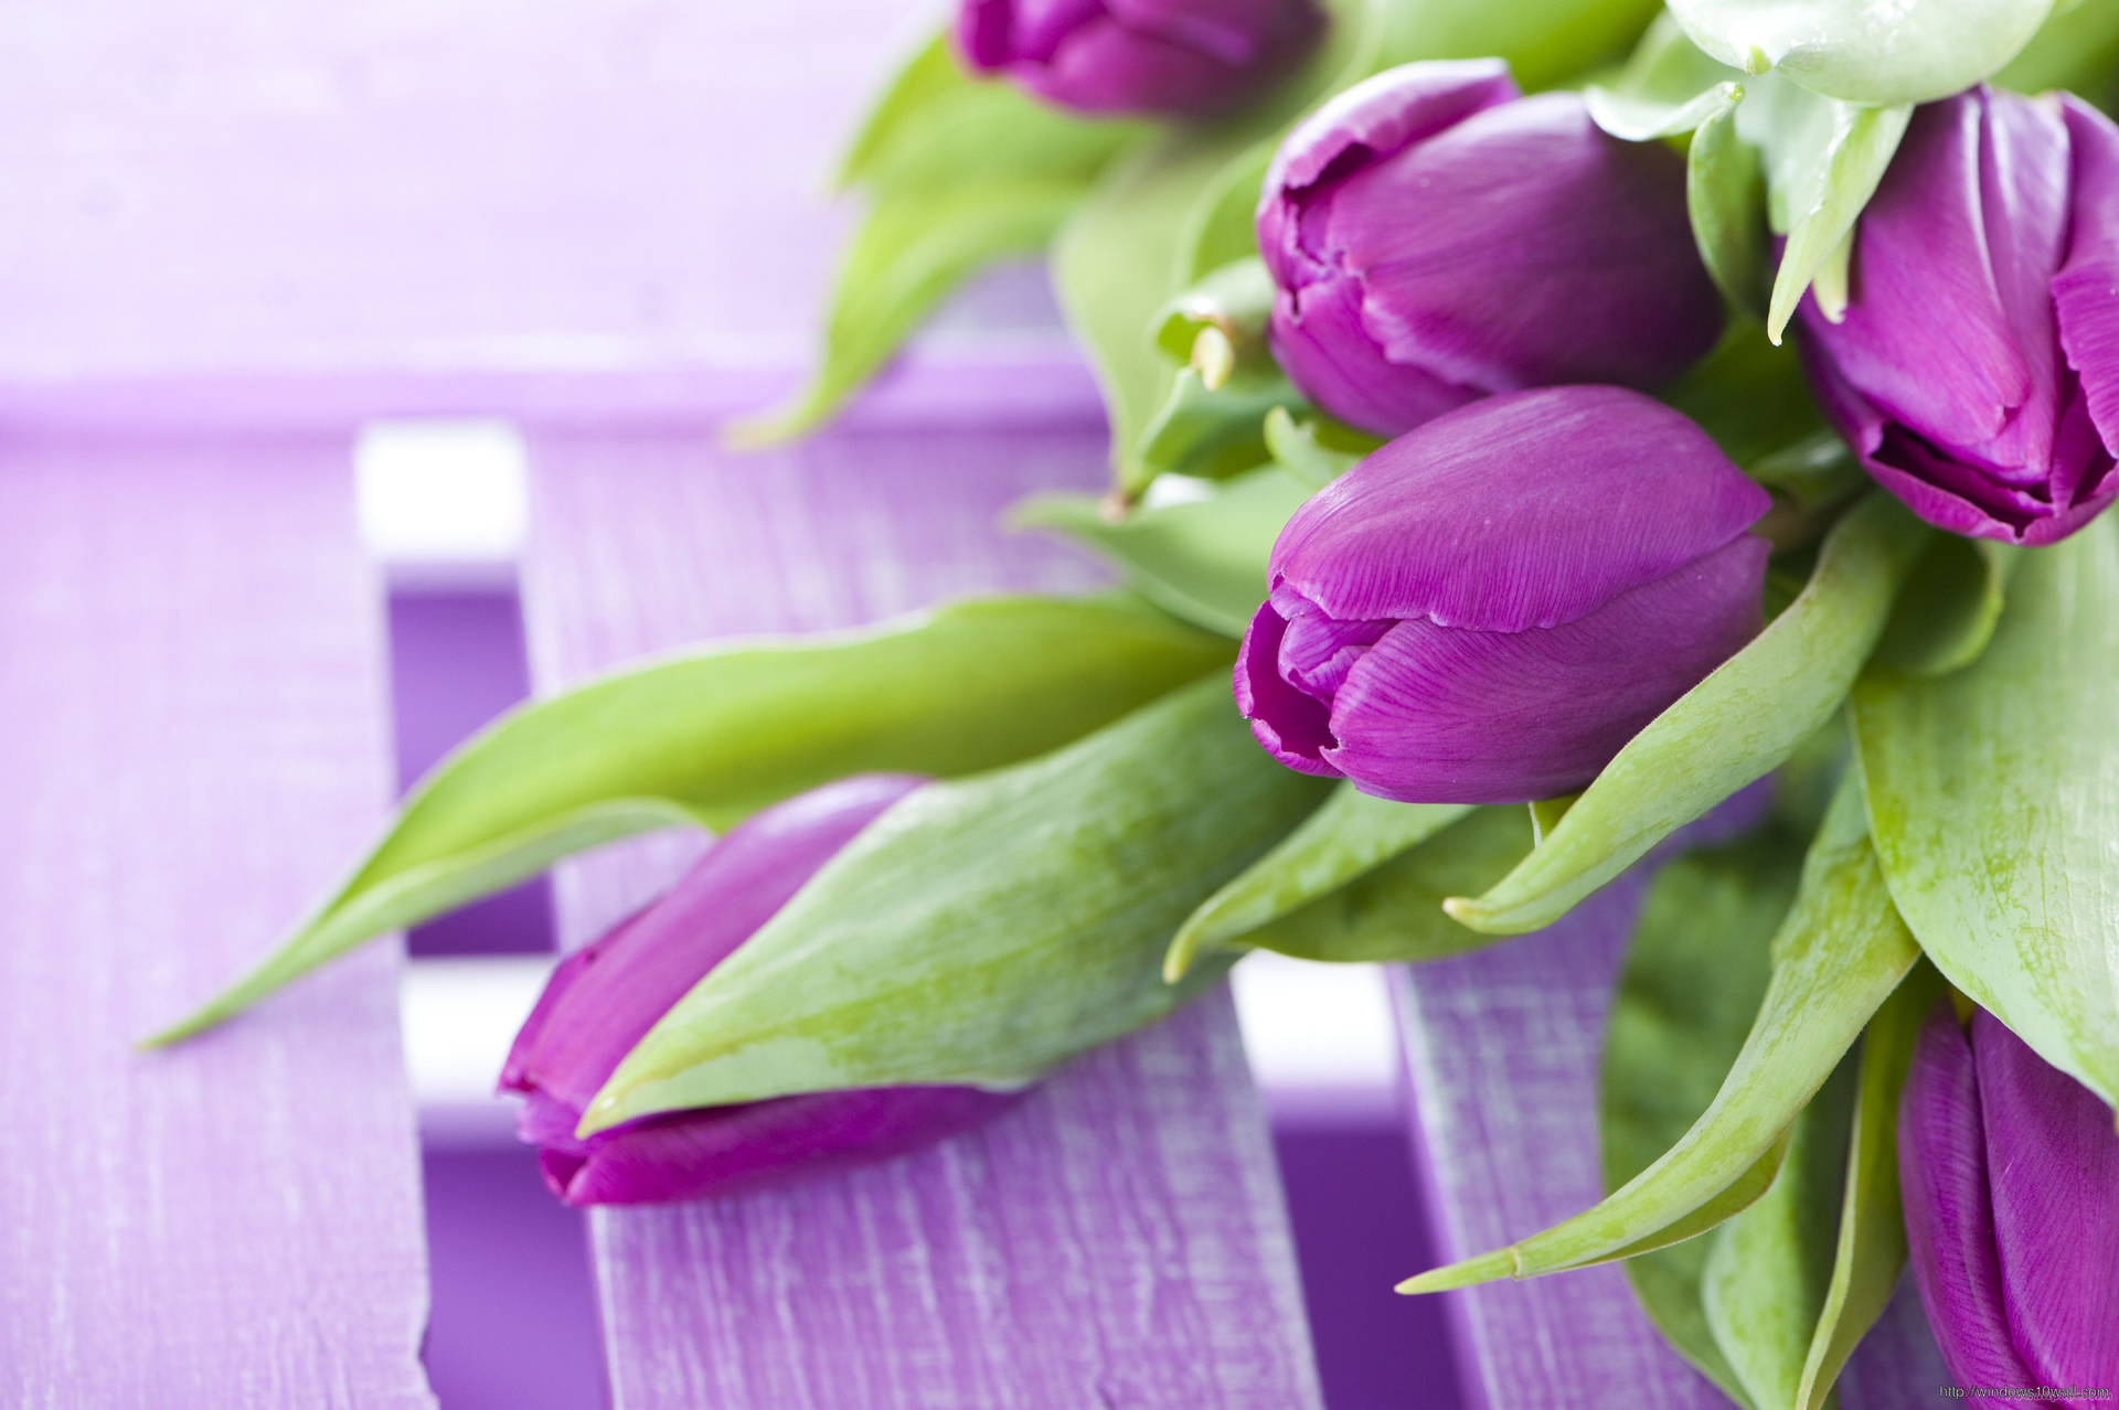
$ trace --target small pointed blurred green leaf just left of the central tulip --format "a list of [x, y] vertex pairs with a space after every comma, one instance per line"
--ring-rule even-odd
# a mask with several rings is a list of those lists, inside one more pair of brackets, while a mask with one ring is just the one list
[[1066, 534], [1125, 570], [1140, 595], [1165, 612], [1242, 637], [1265, 601], [1274, 540], [1305, 498], [1288, 474], [1259, 470], [1197, 500], [1151, 504], [1123, 519], [1093, 495], [1032, 495], [1009, 512], [1009, 523]]

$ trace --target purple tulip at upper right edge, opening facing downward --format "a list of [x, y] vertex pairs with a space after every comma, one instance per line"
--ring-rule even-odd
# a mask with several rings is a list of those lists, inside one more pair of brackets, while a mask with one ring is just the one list
[[2119, 129], [2070, 95], [1928, 104], [1863, 212], [1818, 400], [1928, 523], [2051, 544], [2119, 495]]

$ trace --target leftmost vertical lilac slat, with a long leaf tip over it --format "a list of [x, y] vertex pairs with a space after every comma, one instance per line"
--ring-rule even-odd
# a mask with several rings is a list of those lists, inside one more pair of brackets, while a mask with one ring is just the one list
[[0, 1404], [430, 1406], [375, 946], [176, 1052], [388, 798], [348, 447], [0, 453]]

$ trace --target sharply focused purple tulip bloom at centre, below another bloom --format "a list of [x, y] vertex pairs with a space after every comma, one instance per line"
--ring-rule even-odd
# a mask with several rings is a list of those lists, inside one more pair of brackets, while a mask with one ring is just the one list
[[1759, 631], [1769, 504], [1638, 392], [1473, 402], [1295, 510], [1235, 703], [1282, 764], [1379, 798], [1572, 792]]

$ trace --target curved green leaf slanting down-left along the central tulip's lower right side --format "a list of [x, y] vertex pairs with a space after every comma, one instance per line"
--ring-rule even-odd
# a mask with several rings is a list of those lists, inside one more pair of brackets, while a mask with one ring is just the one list
[[1551, 836], [1477, 900], [1473, 929], [1541, 929], [1659, 840], [1780, 766], [1839, 709], [1926, 529], [1871, 493], [1833, 527], [1810, 584], [1750, 646], [1636, 735]]

